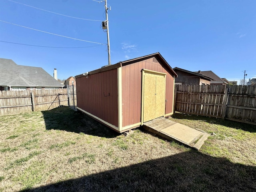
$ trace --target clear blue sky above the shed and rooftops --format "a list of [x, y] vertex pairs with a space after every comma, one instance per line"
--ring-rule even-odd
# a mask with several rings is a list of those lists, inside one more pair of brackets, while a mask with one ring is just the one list
[[[107, 2], [112, 64], [160, 52], [172, 68], [238, 81], [246, 70], [246, 79], [256, 78], [256, 0]], [[94, 0], [0, 0], [0, 58], [51, 75], [57, 68], [59, 79], [101, 68], [105, 19], [104, 2]]]

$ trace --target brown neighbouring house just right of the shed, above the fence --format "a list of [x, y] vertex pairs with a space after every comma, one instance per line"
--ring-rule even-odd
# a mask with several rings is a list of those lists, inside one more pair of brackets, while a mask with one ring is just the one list
[[206, 77], [202, 74], [198, 74], [192, 71], [181, 69], [178, 67], [173, 68], [173, 70], [178, 75], [175, 78], [175, 84], [182, 85], [210, 85], [211, 78]]

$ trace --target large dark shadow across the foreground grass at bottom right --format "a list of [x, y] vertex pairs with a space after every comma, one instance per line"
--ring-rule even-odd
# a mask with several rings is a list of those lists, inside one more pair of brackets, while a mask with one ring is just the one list
[[256, 167], [190, 150], [22, 192], [256, 191]]

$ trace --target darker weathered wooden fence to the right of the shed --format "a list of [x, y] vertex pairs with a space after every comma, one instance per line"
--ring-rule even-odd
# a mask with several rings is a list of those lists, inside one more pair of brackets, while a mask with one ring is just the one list
[[176, 85], [174, 110], [256, 124], [256, 86]]

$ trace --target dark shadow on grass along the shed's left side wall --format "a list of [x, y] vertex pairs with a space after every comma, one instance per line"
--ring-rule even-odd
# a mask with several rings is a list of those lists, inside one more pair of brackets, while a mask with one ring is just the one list
[[68, 132], [80, 133], [114, 138], [118, 133], [90, 118], [89, 116], [76, 112], [67, 106], [55, 108], [49, 111], [42, 111], [46, 130], [65, 130]]

